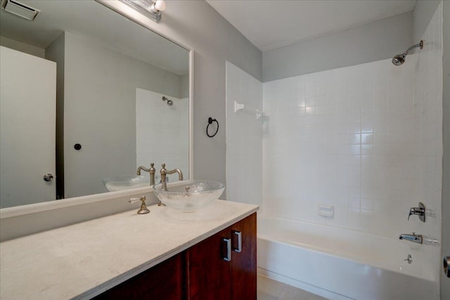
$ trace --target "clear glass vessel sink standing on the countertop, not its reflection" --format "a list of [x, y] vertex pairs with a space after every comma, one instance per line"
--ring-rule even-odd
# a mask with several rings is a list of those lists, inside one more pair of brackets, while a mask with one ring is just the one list
[[153, 187], [158, 199], [169, 207], [194, 212], [219, 199], [225, 185], [216, 181], [183, 181], [181, 185], [168, 186], [162, 190], [162, 184]]

